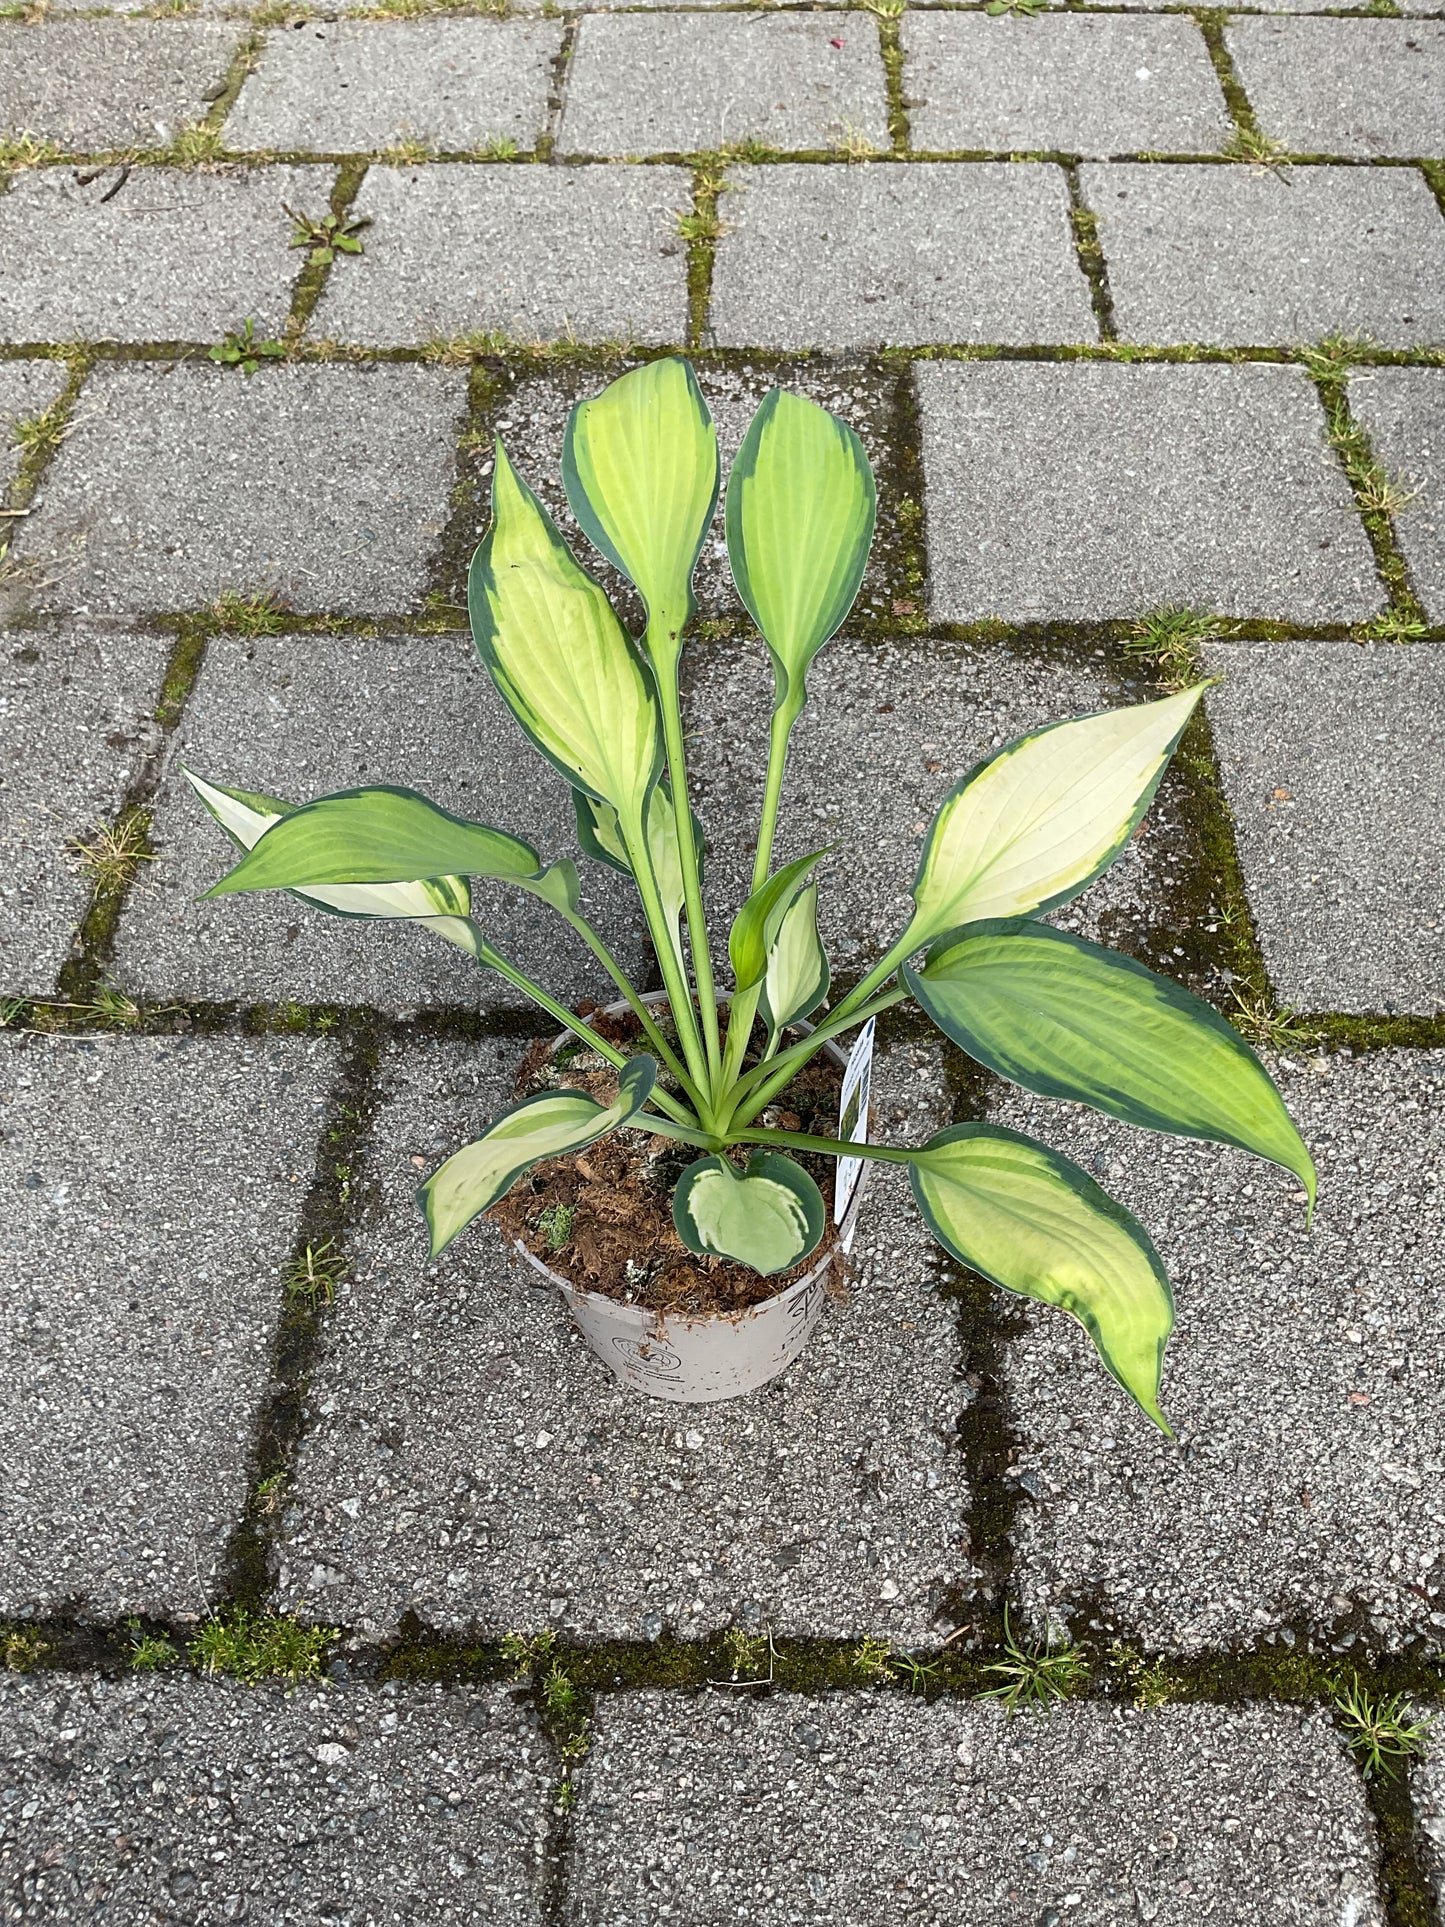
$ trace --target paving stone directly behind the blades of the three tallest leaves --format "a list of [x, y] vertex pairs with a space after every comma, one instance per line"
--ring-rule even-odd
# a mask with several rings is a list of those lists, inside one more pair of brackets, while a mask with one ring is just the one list
[[[902, 567], [907, 545], [907, 530], [904, 528], [907, 509], [896, 478], [898, 378], [877, 364], [832, 358], [827, 362], [778, 362], [767, 356], [757, 364], [744, 362], [730, 368], [697, 360], [694, 368], [717, 422], [724, 486], [748, 424], [771, 387], [796, 389], [852, 422], [869, 451], [879, 484], [879, 532], [855, 605], [857, 613], [888, 617], [917, 611], [913, 599], [917, 588], [904, 580]], [[622, 574], [611, 568], [582, 536], [561, 484], [563, 437], [572, 405], [599, 393], [609, 380], [622, 372], [620, 366], [599, 372], [597, 368], [563, 364], [505, 385], [499, 383], [495, 401], [484, 410], [486, 434], [478, 437], [478, 447], [468, 451], [462, 461], [464, 474], [474, 484], [474, 518], [468, 526], [468, 538], [480, 540], [491, 520], [491, 439], [501, 436], [507, 453], [530, 486], [538, 489], [574, 551], [605, 584], [624, 619], [640, 628], [644, 620], [642, 601]], [[703, 617], [744, 615], [728, 568], [721, 501], [713, 530], [703, 543], [694, 588]], [[460, 595], [460, 580], [455, 590]], [[902, 607], [894, 607], [896, 601]]]

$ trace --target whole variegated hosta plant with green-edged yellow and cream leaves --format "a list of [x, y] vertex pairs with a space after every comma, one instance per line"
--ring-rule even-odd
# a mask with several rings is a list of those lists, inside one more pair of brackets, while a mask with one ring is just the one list
[[[763, 1114], [828, 1039], [906, 998], [1027, 1091], [1237, 1145], [1295, 1172], [1314, 1199], [1310, 1154], [1223, 1017], [1131, 958], [1040, 921], [1139, 829], [1202, 686], [1052, 725], [969, 769], [925, 836], [907, 923], [828, 1006], [817, 917], [825, 852], [775, 869], [773, 844], [807, 671], [857, 595], [875, 488], [844, 422], [775, 389], [726, 488], [728, 559], [767, 644], [773, 711], [759, 744], [767, 777], [751, 894], [728, 929], [721, 996], [678, 692], [694, 568], [719, 495], [717, 430], [688, 362], [651, 362], [580, 403], [563, 476], [588, 540], [642, 597], [642, 636], [628, 634], [501, 445], [491, 528], [470, 567], [472, 634], [528, 742], [570, 784], [582, 854], [636, 886], [667, 1016], [644, 1002], [584, 913], [570, 856], [543, 856], [412, 790], [341, 790], [297, 805], [191, 777], [245, 850], [210, 896], [295, 890], [339, 915], [412, 919], [499, 971], [615, 1066], [613, 1102], [539, 1091], [432, 1172], [420, 1204], [434, 1254], [541, 1160], [645, 1123], [697, 1152], [672, 1197], [684, 1245], [763, 1276], [790, 1270], [827, 1226], [819, 1187], [792, 1152], [840, 1147], [769, 1129]], [[636, 1014], [636, 1054], [503, 956], [472, 915], [472, 877], [541, 898], [578, 933]], [[803, 1017], [815, 1027], [798, 1035]], [[1164, 1424], [1169, 1281], [1144, 1227], [1087, 1172], [994, 1123], [956, 1123], [919, 1148], [850, 1150], [907, 1166], [938, 1243], [994, 1283], [1071, 1312], [1108, 1370]]]

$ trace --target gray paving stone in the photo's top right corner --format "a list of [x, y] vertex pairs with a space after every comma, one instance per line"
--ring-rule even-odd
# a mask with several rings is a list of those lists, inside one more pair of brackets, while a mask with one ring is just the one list
[[1445, 154], [1445, 21], [1231, 19], [1260, 127], [1297, 154]]

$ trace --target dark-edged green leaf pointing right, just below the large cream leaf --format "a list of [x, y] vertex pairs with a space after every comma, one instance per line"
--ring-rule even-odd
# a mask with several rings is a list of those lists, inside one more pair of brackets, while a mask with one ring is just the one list
[[1314, 1162], [1245, 1039], [1183, 985], [1029, 917], [942, 937], [904, 983], [979, 1064], [1148, 1131], [1239, 1145], [1293, 1172]]

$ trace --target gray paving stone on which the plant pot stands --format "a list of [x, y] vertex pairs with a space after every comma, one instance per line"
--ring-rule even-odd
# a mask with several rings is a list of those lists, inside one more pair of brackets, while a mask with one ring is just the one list
[[[279, 1597], [366, 1630], [414, 1611], [493, 1636], [765, 1621], [934, 1644], [971, 1580], [965, 1393], [906, 1185], [869, 1191], [852, 1303], [780, 1380], [665, 1405], [613, 1382], [493, 1226], [424, 1268], [418, 1166], [511, 1100], [516, 1062], [505, 1041], [383, 1060], [374, 1208], [310, 1382]], [[875, 1075], [890, 1135], [942, 1122], [936, 1060], [906, 1048]]]

